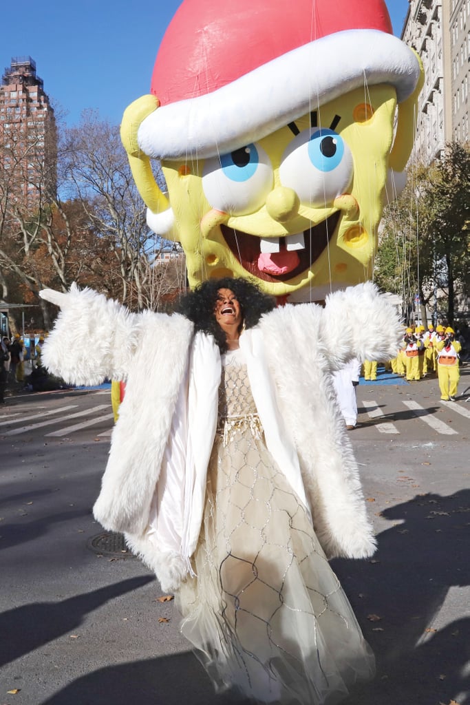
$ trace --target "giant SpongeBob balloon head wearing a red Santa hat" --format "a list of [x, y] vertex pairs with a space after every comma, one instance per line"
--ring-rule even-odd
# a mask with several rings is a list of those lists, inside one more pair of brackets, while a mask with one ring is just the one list
[[185, 0], [121, 125], [149, 227], [191, 286], [242, 276], [295, 302], [364, 281], [422, 83], [384, 0]]

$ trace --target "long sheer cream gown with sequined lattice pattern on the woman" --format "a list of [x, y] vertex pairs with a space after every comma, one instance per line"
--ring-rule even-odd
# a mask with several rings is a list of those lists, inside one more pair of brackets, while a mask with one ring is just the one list
[[182, 632], [216, 689], [331, 705], [373, 675], [369, 646], [309, 513], [264, 441], [241, 351], [223, 356], [196, 577], [176, 595]]

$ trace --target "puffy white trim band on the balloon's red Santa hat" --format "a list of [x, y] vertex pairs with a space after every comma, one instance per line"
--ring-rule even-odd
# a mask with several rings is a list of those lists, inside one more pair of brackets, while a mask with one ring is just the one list
[[402, 102], [419, 75], [416, 55], [397, 37], [379, 30], [335, 32], [214, 92], [159, 107], [142, 121], [137, 140], [152, 158], [214, 157], [362, 85], [394, 85]]

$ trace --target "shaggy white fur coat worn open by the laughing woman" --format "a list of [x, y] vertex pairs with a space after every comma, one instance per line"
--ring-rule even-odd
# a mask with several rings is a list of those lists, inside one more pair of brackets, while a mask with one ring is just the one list
[[[47, 368], [74, 384], [99, 384], [106, 377], [127, 381], [94, 515], [106, 529], [125, 533], [163, 589], [175, 589], [187, 571], [185, 560], [178, 551], [161, 551], [158, 537], [149, 540], [148, 529], [187, 375], [193, 325], [179, 314], [132, 314], [76, 286], [65, 295], [45, 290], [42, 296], [61, 306], [44, 343]], [[256, 327], [326, 555], [371, 556], [376, 541], [331, 372], [352, 357], [395, 355], [402, 332], [395, 309], [366, 283], [333, 293], [324, 309], [313, 304], [275, 309]], [[175, 506], [175, 520], [181, 512]]]

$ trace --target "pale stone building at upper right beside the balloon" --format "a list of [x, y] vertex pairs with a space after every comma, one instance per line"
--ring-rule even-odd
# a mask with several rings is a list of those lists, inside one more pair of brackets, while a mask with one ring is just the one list
[[402, 39], [423, 61], [412, 160], [429, 164], [446, 142], [469, 140], [470, 0], [409, 0]]

